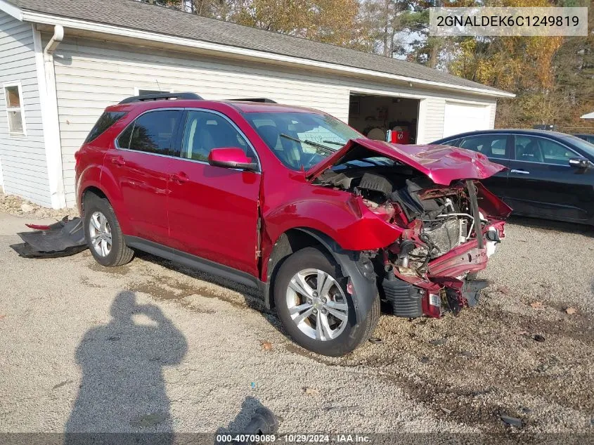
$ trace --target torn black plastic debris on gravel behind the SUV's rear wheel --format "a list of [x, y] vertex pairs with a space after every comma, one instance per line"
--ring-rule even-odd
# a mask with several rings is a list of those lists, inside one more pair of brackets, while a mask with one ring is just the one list
[[32, 232], [20, 232], [18, 236], [24, 243], [11, 247], [24, 258], [58, 258], [77, 254], [86, 249], [82, 219], [65, 217], [49, 226], [34, 226]]

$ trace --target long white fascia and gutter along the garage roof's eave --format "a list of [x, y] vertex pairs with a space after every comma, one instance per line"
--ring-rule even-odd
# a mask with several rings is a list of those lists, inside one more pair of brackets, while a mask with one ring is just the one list
[[[0, 0], [2, 1], [2, 0]], [[1, 8], [1, 4], [0, 4]], [[318, 60], [310, 60], [306, 58], [299, 58], [293, 56], [283, 56], [277, 53], [269, 53], [266, 51], [257, 51], [253, 49], [239, 48], [237, 46], [228, 46], [224, 44], [214, 44], [208, 41], [201, 41], [196, 39], [188, 39], [185, 37], [175, 37], [167, 34], [159, 34], [156, 32], [148, 32], [141, 30], [134, 30], [131, 28], [118, 27], [114, 25], [104, 25], [102, 23], [89, 22], [86, 20], [77, 20], [72, 18], [64, 18], [56, 15], [49, 15], [44, 13], [35, 13], [32, 11], [22, 11], [23, 20], [30, 22], [37, 22], [44, 25], [62, 25], [63, 27], [70, 27], [77, 30], [84, 30], [90, 32], [101, 32], [103, 34], [113, 34], [119, 37], [131, 37], [134, 39], [143, 39], [149, 41], [159, 41], [161, 43], [174, 44], [179, 46], [189, 46], [195, 49], [202, 49], [206, 51], [217, 51], [219, 53], [229, 53], [236, 56], [243, 56], [247, 58], [273, 60], [276, 62], [290, 63], [293, 65], [302, 65], [307, 67], [318, 67], [325, 70], [335, 72], [346, 72], [351, 75], [359, 75], [366, 77], [380, 77], [383, 79], [396, 80], [399, 82], [408, 82], [409, 86], [413, 84], [420, 84], [432, 86], [435, 88], [445, 88], [451, 90], [463, 91], [465, 93], [476, 93], [483, 96], [492, 97], [515, 97], [513, 93], [505, 91], [492, 91], [489, 89], [482, 89], [477, 87], [460, 86], [454, 84], [447, 84], [444, 82], [433, 82], [429, 80], [416, 79], [415, 77], [406, 77], [400, 75], [392, 75], [387, 72], [380, 72], [375, 70], [367, 70], [363, 68], [349, 67], [347, 65], [337, 65], [335, 63], [321, 62]]]

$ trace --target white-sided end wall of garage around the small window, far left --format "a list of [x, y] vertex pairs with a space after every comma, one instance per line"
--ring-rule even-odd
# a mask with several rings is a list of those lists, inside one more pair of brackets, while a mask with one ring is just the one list
[[[3, 84], [20, 82], [26, 136], [8, 134]], [[0, 11], [0, 161], [4, 192], [51, 206], [37, 66], [30, 23]]]

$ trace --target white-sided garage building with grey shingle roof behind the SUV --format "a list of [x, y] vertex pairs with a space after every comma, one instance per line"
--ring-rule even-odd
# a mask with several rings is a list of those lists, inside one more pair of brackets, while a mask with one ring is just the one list
[[142, 90], [270, 98], [349, 123], [354, 98], [407, 101], [417, 143], [492, 128], [497, 98], [512, 96], [401, 60], [132, 0], [0, 0], [0, 60], [0, 84], [22, 87], [26, 126], [8, 128], [3, 87], [0, 185], [51, 207], [75, 205], [74, 153], [103, 109]]

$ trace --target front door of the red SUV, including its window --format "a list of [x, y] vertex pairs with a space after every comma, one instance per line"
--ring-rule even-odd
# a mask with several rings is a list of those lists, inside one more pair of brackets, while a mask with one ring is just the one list
[[169, 163], [169, 245], [258, 276], [259, 172], [213, 167], [213, 148], [256, 158], [238, 127], [219, 112], [188, 110], [181, 153]]

